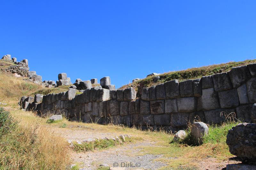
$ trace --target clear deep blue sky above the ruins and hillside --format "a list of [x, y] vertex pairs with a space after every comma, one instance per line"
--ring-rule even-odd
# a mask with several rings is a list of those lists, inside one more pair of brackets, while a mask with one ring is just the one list
[[133, 78], [255, 59], [256, 1], [0, 2], [0, 55], [43, 80]]

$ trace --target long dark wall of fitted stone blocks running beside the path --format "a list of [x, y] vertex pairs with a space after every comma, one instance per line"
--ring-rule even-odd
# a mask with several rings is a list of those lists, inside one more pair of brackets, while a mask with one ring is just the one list
[[32, 99], [29, 102], [24, 97], [21, 103], [25, 105], [23, 108], [34, 106], [39, 114], [51, 111], [65, 114], [73, 121], [176, 131], [195, 119], [209, 124], [221, 123], [230, 113], [251, 122], [252, 105], [256, 103], [255, 75], [256, 64], [249, 64], [200, 79], [172, 80], [143, 88], [140, 99], [135, 99], [136, 91], [132, 87], [108, 90], [97, 86], [79, 95], [75, 89], [48, 94], [41, 103]]

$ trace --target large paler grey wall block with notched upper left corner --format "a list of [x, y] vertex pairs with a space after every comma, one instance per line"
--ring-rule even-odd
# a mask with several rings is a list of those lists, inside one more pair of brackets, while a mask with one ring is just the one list
[[220, 108], [218, 94], [213, 88], [203, 89], [202, 96], [197, 98], [197, 110], [213, 110]]

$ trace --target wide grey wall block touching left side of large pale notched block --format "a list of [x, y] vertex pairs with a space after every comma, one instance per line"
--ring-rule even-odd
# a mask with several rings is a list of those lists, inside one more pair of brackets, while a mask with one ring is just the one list
[[196, 111], [197, 100], [195, 97], [185, 97], [177, 99], [178, 110], [180, 113]]

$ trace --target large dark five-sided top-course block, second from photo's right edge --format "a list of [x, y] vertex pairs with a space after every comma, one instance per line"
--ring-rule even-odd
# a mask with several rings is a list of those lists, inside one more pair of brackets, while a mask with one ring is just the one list
[[242, 85], [246, 80], [251, 78], [249, 70], [247, 69], [247, 67], [245, 65], [239, 66], [239, 67], [233, 67], [228, 72], [228, 76], [229, 76], [234, 88]]

